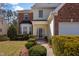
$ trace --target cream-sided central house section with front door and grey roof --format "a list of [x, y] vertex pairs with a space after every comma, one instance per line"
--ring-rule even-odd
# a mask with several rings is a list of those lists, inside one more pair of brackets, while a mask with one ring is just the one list
[[56, 3], [36, 3], [32, 7], [33, 35], [44, 38], [49, 35], [48, 16], [58, 5]]

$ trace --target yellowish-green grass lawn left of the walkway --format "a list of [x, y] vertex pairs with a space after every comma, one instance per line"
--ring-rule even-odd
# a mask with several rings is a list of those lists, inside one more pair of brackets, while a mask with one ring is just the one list
[[27, 41], [3, 41], [0, 42], [0, 55], [18, 56], [20, 50]]

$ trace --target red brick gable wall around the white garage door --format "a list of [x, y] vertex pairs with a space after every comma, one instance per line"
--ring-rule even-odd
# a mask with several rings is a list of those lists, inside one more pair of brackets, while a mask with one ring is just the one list
[[59, 22], [79, 22], [79, 3], [66, 3], [55, 16], [54, 34], [59, 33]]

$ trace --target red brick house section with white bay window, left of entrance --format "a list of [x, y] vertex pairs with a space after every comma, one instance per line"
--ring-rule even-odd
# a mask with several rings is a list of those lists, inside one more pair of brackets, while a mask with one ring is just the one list
[[32, 34], [32, 22], [30, 10], [18, 11], [19, 32], [21, 34]]

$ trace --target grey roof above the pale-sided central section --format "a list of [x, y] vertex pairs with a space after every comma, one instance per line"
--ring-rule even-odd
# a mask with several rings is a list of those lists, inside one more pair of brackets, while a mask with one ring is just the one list
[[34, 8], [55, 8], [61, 3], [36, 3], [32, 6], [32, 9]]

